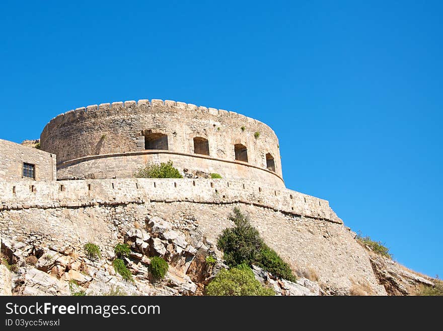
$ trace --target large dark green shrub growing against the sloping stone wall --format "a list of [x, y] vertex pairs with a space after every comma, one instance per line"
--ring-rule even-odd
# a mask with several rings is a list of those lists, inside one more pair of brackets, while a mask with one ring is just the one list
[[223, 251], [228, 266], [255, 264], [276, 277], [292, 282], [297, 280], [289, 265], [263, 242], [257, 229], [249, 223], [248, 217], [240, 209], [234, 208], [229, 219], [235, 226], [226, 228], [217, 238], [217, 248]]

